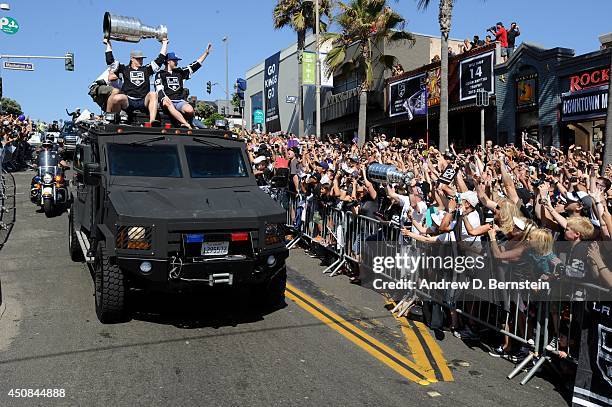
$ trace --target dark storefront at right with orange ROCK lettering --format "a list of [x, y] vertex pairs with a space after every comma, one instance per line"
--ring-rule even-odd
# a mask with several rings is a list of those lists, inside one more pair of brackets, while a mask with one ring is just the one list
[[567, 48], [523, 43], [496, 66], [497, 142], [592, 149], [603, 138], [610, 49], [575, 56]]

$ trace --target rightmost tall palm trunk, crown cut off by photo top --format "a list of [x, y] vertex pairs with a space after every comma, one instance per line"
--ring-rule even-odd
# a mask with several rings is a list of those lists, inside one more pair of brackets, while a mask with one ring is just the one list
[[[418, 0], [421, 9], [429, 7], [431, 0]], [[450, 34], [454, 0], [440, 0], [440, 151], [448, 148], [448, 36]]]

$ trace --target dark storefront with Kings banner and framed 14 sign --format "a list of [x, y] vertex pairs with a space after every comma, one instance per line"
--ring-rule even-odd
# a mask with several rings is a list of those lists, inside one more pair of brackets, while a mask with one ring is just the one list
[[[494, 68], [500, 61], [499, 46], [476, 48], [449, 58], [449, 141], [457, 147], [481, 143], [496, 136]], [[478, 93], [484, 96], [478, 100]], [[484, 103], [481, 103], [484, 101]], [[374, 123], [376, 133], [392, 137], [429, 139], [439, 143], [440, 63], [431, 63], [387, 81], [386, 115]]]

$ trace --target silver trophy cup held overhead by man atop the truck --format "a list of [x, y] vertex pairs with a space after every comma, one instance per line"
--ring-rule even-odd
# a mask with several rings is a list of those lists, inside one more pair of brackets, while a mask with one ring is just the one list
[[104, 13], [102, 24], [104, 38], [123, 42], [139, 42], [145, 38], [155, 38], [161, 41], [168, 37], [168, 29], [165, 25], [159, 27], [149, 27], [133, 17], [116, 16]]

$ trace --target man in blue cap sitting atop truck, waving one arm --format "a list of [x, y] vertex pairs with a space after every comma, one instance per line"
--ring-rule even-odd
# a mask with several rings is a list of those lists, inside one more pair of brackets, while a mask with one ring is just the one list
[[197, 61], [192, 62], [187, 68], [178, 68], [177, 57], [174, 52], [170, 52], [166, 58], [166, 69], [157, 72], [155, 75], [155, 90], [157, 98], [161, 101], [162, 107], [181, 123], [181, 126], [191, 128], [188, 120], [194, 115], [193, 107], [183, 100], [183, 81], [191, 79], [210, 53], [212, 45], [209, 43], [206, 51]]

